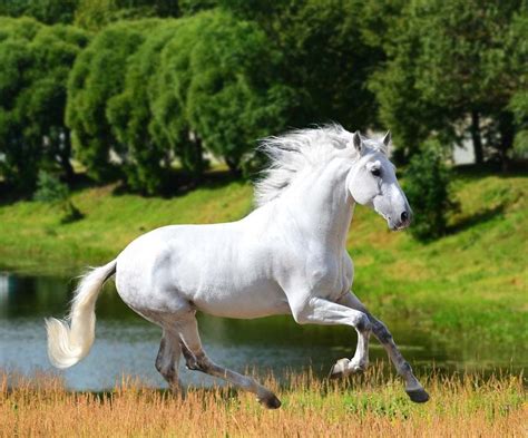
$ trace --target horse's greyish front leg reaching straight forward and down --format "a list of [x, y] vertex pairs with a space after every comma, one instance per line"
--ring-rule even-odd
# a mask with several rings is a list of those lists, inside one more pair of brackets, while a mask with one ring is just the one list
[[378, 338], [383, 348], [389, 354], [392, 363], [394, 364], [398, 373], [405, 381], [405, 392], [409, 398], [415, 402], [426, 402], [429, 400], [429, 395], [426, 392], [421, 383], [414, 377], [412, 368], [409, 362], [403, 358], [403, 354], [400, 352], [399, 348], [392, 339], [392, 334], [387, 328], [387, 325], [374, 318], [363, 305], [363, 303], [355, 296], [352, 292], [344, 295], [340, 303], [356, 311], [363, 312], [369, 318], [369, 321], [372, 327], [372, 333]]

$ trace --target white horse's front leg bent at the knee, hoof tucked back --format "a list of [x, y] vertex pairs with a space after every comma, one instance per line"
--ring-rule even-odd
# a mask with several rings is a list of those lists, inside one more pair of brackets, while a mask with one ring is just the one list
[[351, 325], [358, 332], [358, 348], [352, 360], [341, 359], [332, 368], [331, 377], [363, 371], [369, 364], [369, 338], [372, 324], [362, 311], [322, 298], [312, 296], [290, 302], [292, 314], [300, 324]]

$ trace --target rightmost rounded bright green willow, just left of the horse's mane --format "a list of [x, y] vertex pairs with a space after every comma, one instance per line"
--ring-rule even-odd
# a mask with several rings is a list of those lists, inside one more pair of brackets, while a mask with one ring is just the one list
[[255, 25], [223, 11], [196, 18], [192, 32], [201, 32], [190, 55], [186, 110], [190, 130], [241, 171], [241, 159], [255, 140], [285, 127], [293, 90], [276, 79], [281, 53]]

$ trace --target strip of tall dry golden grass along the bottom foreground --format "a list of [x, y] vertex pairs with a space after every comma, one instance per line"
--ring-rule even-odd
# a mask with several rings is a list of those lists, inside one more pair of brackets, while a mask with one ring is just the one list
[[226, 388], [189, 389], [185, 400], [125, 379], [108, 392], [69, 392], [51, 376], [1, 373], [0, 430], [6, 437], [526, 437], [522, 377], [426, 379], [427, 405], [379, 368], [346, 382], [292, 374], [283, 401], [263, 409]]

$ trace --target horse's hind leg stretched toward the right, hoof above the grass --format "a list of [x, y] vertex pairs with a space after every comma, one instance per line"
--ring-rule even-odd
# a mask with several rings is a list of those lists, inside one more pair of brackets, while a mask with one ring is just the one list
[[222, 368], [205, 354], [199, 340], [198, 324], [194, 314], [188, 315], [185, 320], [178, 321], [178, 330], [183, 341], [182, 349], [188, 369], [218, 377], [227, 380], [237, 388], [253, 392], [257, 400], [268, 409], [276, 409], [281, 406], [281, 401], [275, 397], [275, 395], [257, 383], [254, 379], [226, 368]]

